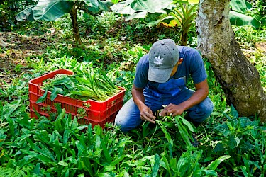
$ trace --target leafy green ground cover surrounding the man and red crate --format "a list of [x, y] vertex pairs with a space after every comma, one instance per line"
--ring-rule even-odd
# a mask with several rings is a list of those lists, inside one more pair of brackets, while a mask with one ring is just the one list
[[[148, 28], [113, 13], [79, 16], [79, 21], [80, 47], [73, 47], [67, 16], [1, 33], [9, 46], [0, 48], [0, 176], [265, 176], [265, 124], [240, 117], [226, 105], [206, 59], [215, 109], [198, 128], [182, 116], [158, 117], [156, 125], [143, 122], [122, 133], [111, 123], [104, 129], [79, 125], [59, 106], [55, 118], [30, 118], [29, 80], [59, 68], [74, 70], [86, 62], [103, 66], [112, 81], [127, 90], [127, 101], [138, 59], [155, 40], [179, 38], [178, 29]], [[193, 31], [188, 42], [196, 47]], [[265, 35], [265, 28], [235, 28], [266, 89]], [[192, 132], [199, 147], [189, 145], [186, 136]]]

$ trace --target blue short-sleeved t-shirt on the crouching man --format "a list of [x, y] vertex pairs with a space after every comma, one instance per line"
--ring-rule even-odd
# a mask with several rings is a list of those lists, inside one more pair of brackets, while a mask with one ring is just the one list
[[[170, 79], [184, 78], [185, 83], [192, 77], [195, 84], [204, 81], [207, 78], [204, 62], [199, 52], [193, 48], [178, 46], [179, 58], [183, 58], [182, 64], [179, 64], [177, 72], [170, 77]], [[134, 85], [138, 88], [145, 88], [148, 86], [150, 89], [157, 89], [158, 83], [154, 81], [148, 81], [148, 69], [149, 69], [149, 55], [144, 55], [140, 58], [140, 61], [136, 67]]]

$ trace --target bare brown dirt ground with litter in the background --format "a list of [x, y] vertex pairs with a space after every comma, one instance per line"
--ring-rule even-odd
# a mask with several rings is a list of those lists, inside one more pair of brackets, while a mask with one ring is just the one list
[[[22, 72], [28, 72], [27, 58], [42, 55], [48, 45], [44, 36], [26, 36], [13, 32], [0, 32], [0, 38], [8, 45], [6, 49], [0, 48], [0, 86], [5, 81], [11, 83], [12, 79]], [[266, 42], [256, 45], [266, 55]], [[255, 49], [243, 50], [246, 57], [250, 57]]]

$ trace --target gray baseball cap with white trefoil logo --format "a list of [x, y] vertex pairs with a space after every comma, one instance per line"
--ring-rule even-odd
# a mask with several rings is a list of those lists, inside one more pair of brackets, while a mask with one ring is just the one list
[[158, 83], [166, 82], [178, 60], [179, 50], [174, 40], [158, 40], [150, 48], [148, 80]]

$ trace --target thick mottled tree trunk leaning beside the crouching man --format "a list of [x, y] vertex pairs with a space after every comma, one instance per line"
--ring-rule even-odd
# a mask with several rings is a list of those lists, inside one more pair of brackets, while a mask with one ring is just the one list
[[198, 48], [209, 59], [226, 93], [228, 105], [240, 116], [266, 121], [266, 95], [257, 69], [240, 50], [229, 21], [230, 0], [200, 0], [196, 18]]

